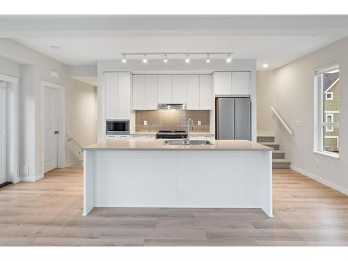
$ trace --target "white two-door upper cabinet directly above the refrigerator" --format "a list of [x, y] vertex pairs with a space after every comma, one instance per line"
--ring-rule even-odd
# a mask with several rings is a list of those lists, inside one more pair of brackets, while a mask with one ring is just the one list
[[250, 95], [250, 72], [214, 72], [215, 95]]

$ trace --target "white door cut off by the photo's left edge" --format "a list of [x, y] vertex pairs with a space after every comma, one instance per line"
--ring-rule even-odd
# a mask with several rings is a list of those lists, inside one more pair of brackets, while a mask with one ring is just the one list
[[0, 81], [0, 184], [6, 181], [6, 83]]

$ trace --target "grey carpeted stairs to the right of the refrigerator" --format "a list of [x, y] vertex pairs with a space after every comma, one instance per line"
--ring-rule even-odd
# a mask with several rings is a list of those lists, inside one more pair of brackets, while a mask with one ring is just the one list
[[271, 134], [258, 134], [258, 143], [273, 148], [272, 165], [273, 168], [290, 168], [290, 161], [285, 159], [285, 152], [279, 150], [279, 144], [274, 142]]

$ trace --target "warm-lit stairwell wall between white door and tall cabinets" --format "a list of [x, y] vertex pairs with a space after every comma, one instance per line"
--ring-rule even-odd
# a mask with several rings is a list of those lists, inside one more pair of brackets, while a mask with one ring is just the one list
[[[68, 78], [65, 90], [66, 131], [82, 146], [97, 141], [97, 87]], [[66, 146], [67, 166], [79, 166], [79, 148], [73, 142]]]

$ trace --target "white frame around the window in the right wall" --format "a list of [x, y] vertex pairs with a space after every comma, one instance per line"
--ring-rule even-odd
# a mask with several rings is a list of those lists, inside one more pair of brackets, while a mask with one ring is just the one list
[[329, 65], [321, 66], [319, 68], [316, 68], [314, 71], [315, 100], [314, 100], [313, 152], [317, 155], [323, 155], [323, 156], [331, 157], [333, 159], [340, 159], [340, 153], [329, 152], [324, 150], [324, 139], [325, 139], [324, 131], [326, 130], [326, 127], [332, 127], [332, 129], [333, 127], [340, 127], [339, 122], [326, 122], [326, 112], [324, 111], [324, 102], [326, 99], [326, 93], [324, 93], [324, 73], [331, 72], [333, 70], [340, 70], [340, 66], [338, 62], [333, 62]]

